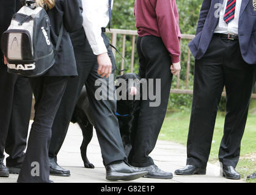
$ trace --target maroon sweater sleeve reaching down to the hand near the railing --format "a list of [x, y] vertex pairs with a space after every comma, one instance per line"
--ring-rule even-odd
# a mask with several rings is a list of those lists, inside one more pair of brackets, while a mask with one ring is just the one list
[[156, 18], [161, 38], [170, 53], [172, 63], [180, 62], [180, 27], [175, 1], [156, 1]]

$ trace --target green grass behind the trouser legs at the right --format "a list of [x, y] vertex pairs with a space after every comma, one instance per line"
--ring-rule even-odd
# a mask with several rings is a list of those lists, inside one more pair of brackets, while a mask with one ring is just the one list
[[[241, 177], [246, 179], [249, 174], [256, 171], [256, 101], [251, 104], [250, 112], [247, 118], [246, 129], [241, 142], [240, 161], [236, 170], [240, 172]], [[186, 146], [188, 138], [190, 112], [167, 113], [163, 127], [159, 134], [160, 140], [174, 141]], [[213, 134], [213, 143], [211, 144], [210, 163], [218, 163], [218, 152], [221, 144], [221, 138], [224, 129], [225, 113], [219, 112], [216, 118], [216, 124]], [[254, 157], [254, 158], [253, 158]], [[249, 180], [248, 182], [255, 182]]]

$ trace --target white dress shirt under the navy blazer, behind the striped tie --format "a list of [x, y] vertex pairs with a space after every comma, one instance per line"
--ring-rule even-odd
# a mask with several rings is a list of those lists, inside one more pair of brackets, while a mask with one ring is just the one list
[[227, 24], [224, 21], [225, 9], [227, 7], [227, 0], [223, 1], [221, 12], [219, 15], [219, 24], [216, 27], [214, 33], [238, 35], [238, 21], [239, 21], [239, 15], [241, 10], [241, 3], [242, 3], [242, 0], [236, 0], [235, 18], [232, 21], [230, 21], [229, 24]]

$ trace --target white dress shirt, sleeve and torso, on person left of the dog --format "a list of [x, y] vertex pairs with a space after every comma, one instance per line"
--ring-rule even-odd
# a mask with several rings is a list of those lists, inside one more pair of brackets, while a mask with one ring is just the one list
[[[113, 2], [114, 0], [112, 0], [112, 7]], [[109, 23], [108, 7], [108, 0], [82, 0], [84, 19], [82, 26], [84, 26], [86, 37], [95, 55], [108, 52], [101, 37], [101, 27], [106, 27]]]

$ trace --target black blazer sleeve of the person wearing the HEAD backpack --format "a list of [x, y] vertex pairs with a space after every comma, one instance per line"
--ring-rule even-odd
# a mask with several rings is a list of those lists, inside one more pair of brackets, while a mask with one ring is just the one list
[[67, 32], [75, 32], [82, 27], [81, 0], [64, 0], [64, 25]]

